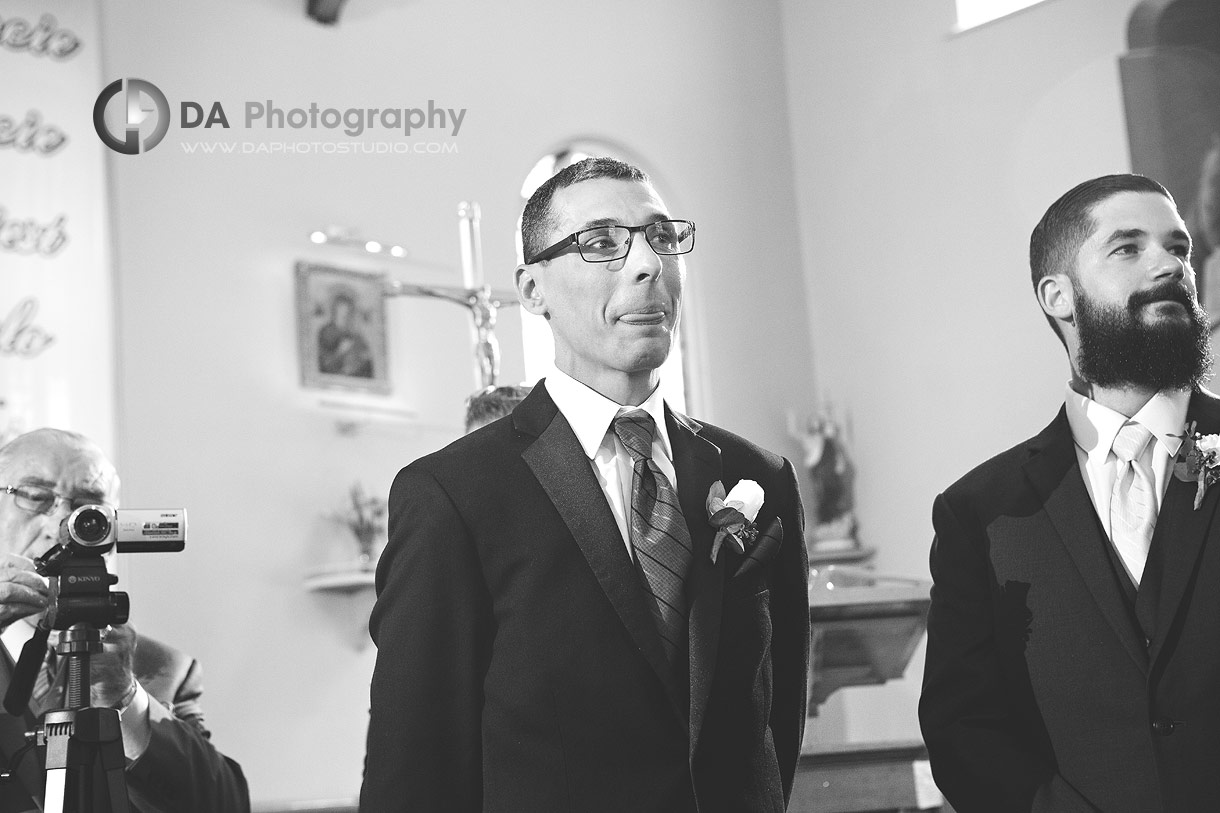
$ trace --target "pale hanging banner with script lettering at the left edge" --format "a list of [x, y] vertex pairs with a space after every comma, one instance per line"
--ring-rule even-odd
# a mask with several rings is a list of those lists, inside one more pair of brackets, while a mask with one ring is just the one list
[[113, 449], [98, 13], [96, 0], [0, 5], [0, 442], [59, 426]]

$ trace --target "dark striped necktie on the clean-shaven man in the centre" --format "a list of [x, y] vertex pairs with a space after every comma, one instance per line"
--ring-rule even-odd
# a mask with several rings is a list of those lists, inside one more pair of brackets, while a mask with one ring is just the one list
[[677, 667], [686, 652], [691, 532], [677, 492], [653, 461], [655, 430], [651, 415], [642, 409], [627, 410], [614, 421], [615, 435], [632, 459], [631, 547], [653, 597], [653, 616], [665, 654]]

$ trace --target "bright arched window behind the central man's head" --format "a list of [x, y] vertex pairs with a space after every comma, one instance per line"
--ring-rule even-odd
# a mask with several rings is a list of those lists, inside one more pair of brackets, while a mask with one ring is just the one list
[[[656, 187], [658, 193], [661, 199], [669, 205], [673, 205], [666, 195], [666, 190], [662, 184], [658, 181], [656, 176], [651, 170], [642, 164], [636, 156], [631, 155], [626, 150], [608, 144], [605, 142], [592, 140], [592, 139], [580, 139], [564, 144], [561, 148], [551, 150], [543, 155], [534, 164], [529, 173], [526, 175], [525, 182], [521, 184], [521, 205], [525, 206], [526, 201], [529, 200], [529, 195], [540, 187], [548, 178], [559, 172], [566, 166], [576, 164], [587, 157], [609, 155], [616, 157], [621, 161], [627, 161], [638, 166], [644, 172], [649, 175], [653, 179], [653, 186]], [[681, 216], [681, 215], [675, 215]], [[517, 217], [517, 259], [522, 258], [521, 247], [521, 219]], [[687, 256], [687, 265], [689, 266], [692, 258]], [[687, 323], [691, 320], [691, 303], [689, 297], [683, 297], [682, 308], [682, 321], [678, 323], [678, 341], [673, 344], [673, 350], [670, 353], [670, 358], [661, 366], [661, 392], [665, 396], [665, 400], [669, 402], [670, 406], [673, 409], [686, 413], [687, 411], [687, 386], [686, 386], [686, 365], [683, 353], [683, 336], [688, 334], [686, 330]], [[551, 369], [555, 359], [555, 344], [551, 341], [550, 328], [547, 326], [547, 320], [540, 316], [534, 316], [532, 314], [522, 311], [521, 314], [521, 342], [525, 348], [525, 370], [526, 381], [533, 383], [538, 378], [547, 375], [547, 371]]]

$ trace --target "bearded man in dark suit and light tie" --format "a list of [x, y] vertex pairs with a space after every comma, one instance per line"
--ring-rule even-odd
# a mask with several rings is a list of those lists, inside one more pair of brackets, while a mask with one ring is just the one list
[[1191, 238], [1116, 175], [1033, 229], [1065, 404], [932, 508], [920, 720], [975, 811], [1220, 811], [1220, 399]]

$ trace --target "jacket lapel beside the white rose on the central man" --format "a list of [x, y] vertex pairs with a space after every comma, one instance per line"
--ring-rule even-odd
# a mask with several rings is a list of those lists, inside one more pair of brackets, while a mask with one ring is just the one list
[[673, 471], [678, 481], [678, 500], [694, 559], [687, 582], [691, 603], [691, 754], [694, 756], [703, 726], [704, 710], [716, 671], [720, 643], [720, 615], [725, 597], [725, 560], [711, 562], [712, 527], [708, 522], [708, 491], [721, 480], [720, 449], [699, 437], [699, 424], [666, 409], [666, 427], [673, 449]]

